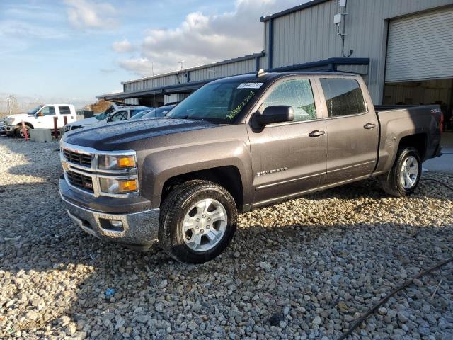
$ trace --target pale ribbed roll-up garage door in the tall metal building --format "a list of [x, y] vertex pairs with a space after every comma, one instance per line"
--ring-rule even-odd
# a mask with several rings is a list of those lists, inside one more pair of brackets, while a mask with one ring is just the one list
[[453, 77], [453, 8], [389, 23], [386, 81]]

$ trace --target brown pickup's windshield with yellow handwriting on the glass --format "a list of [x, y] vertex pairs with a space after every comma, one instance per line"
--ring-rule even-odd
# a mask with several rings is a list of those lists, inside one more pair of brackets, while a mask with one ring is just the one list
[[241, 81], [207, 84], [185, 98], [167, 117], [229, 124], [262, 85], [262, 82]]

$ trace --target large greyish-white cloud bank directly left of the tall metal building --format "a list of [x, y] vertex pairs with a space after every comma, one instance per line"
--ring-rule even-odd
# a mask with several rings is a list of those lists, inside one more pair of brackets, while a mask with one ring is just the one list
[[[301, 0], [236, 0], [234, 11], [219, 15], [189, 13], [174, 29], [152, 29], [145, 33], [140, 55], [120, 61], [120, 67], [139, 74], [171, 72], [240, 57], [263, 50], [260, 17], [300, 4]], [[303, 2], [303, 0], [302, 0]]]

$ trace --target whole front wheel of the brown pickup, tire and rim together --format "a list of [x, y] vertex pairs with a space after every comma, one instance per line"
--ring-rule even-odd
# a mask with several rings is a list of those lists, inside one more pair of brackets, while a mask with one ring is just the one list
[[161, 206], [159, 244], [180, 262], [210, 261], [228, 246], [236, 218], [236, 203], [225, 188], [210, 181], [188, 181]]

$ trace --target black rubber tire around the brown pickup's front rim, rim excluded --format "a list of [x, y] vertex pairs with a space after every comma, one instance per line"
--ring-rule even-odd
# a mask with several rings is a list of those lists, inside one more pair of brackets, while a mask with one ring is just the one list
[[[183, 220], [195, 203], [205, 198], [217, 200], [226, 210], [226, 229], [214, 248], [195, 251], [185, 243]], [[229, 245], [236, 231], [237, 208], [231, 194], [217, 183], [188, 181], [174, 189], [161, 205], [159, 246], [173, 259], [184, 263], [203, 263], [214, 259]]]

